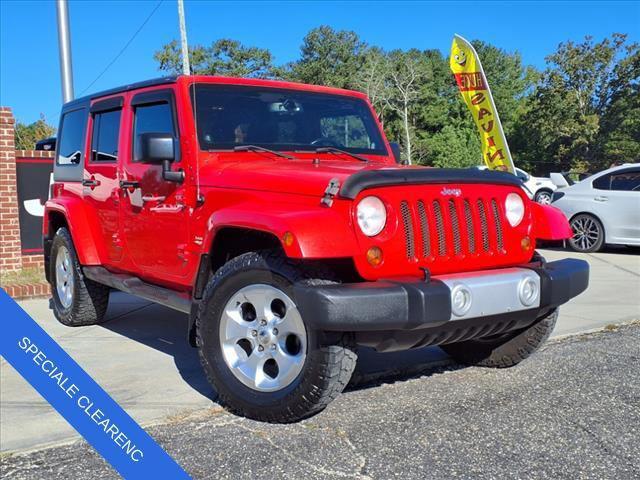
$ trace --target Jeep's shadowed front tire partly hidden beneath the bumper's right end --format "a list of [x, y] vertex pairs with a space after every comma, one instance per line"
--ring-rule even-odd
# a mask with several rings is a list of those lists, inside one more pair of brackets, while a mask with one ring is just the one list
[[558, 320], [558, 309], [519, 332], [441, 345], [454, 360], [490, 368], [517, 365], [537, 351], [549, 338]]

